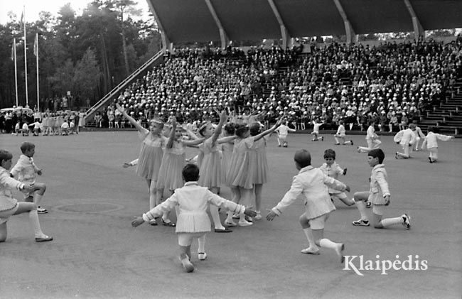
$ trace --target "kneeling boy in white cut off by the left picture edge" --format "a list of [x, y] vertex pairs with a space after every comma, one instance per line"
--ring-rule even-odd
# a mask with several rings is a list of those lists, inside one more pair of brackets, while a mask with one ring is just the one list
[[11, 215], [29, 213], [29, 222], [33, 227], [36, 242], [46, 242], [53, 240], [43, 234], [38, 221], [37, 206], [33, 202], [18, 202], [11, 197], [11, 190], [16, 189], [21, 192], [34, 192], [36, 190], [29, 183], [21, 183], [11, 178], [8, 170], [11, 168], [13, 155], [9, 151], [0, 150], [0, 242], [4, 242], [8, 235], [6, 222]]

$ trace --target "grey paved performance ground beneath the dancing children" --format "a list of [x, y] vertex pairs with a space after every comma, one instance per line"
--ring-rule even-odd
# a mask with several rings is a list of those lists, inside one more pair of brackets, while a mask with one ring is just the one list
[[[333, 146], [327, 135], [323, 142], [309, 138], [291, 134], [289, 148], [278, 148], [272, 137], [264, 209], [289, 188], [298, 148], [311, 151], [315, 166], [323, 162], [326, 148], [334, 148], [338, 163], [348, 168], [341, 180], [350, 185], [350, 195], [368, 190], [366, 154], [355, 151], [364, 136], [352, 136], [355, 146]], [[392, 192], [385, 217], [407, 212], [411, 230], [353, 227], [358, 210], [335, 202], [338, 210], [328, 219], [325, 236], [343, 241], [346, 255], [362, 255], [374, 265], [377, 260], [404, 262], [408, 256], [419, 266], [428, 262], [427, 270], [391, 269], [387, 275], [363, 270], [363, 276], [351, 267], [343, 270], [345, 265], [328, 249], [319, 256], [300, 253], [307, 246], [298, 223], [301, 200], [273, 222], [262, 219], [230, 234], [208, 234], [208, 259], [198, 261], [193, 254], [195, 271], [184, 273], [173, 228], [130, 225], [149, 207], [146, 182], [134, 168], [122, 168], [138, 155], [136, 132], [3, 134], [0, 148], [11, 151], [16, 163], [24, 140], [36, 143], [34, 160], [43, 168], [39, 181], [47, 185], [43, 204], [50, 210], [39, 217], [45, 234], [55, 240], [36, 244], [27, 214], [11, 217], [9, 237], [0, 244], [0, 298], [461, 298], [460, 139], [440, 142], [441, 161], [429, 164], [424, 152], [395, 160], [392, 137], [382, 138]], [[188, 149], [188, 157], [195, 151]], [[230, 198], [227, 187], [222, 196]], [[21, 194], [16, 192], [16, 198]], [[196, 243], [192, 249], [197, 250]], [[358, 259], [352, 263], [360, 268]]]

